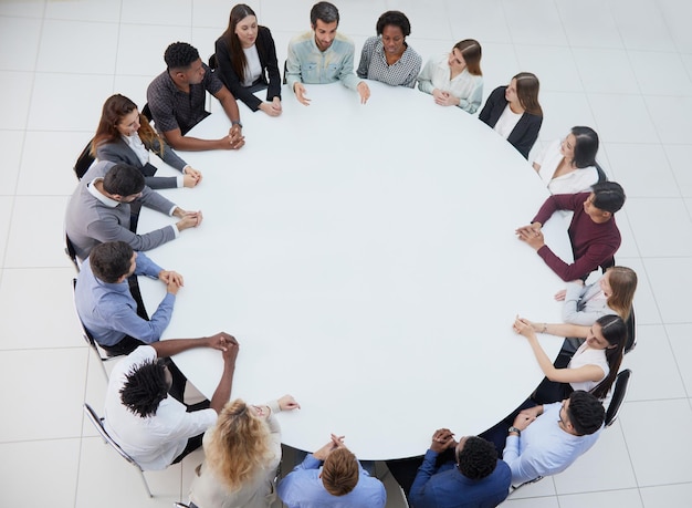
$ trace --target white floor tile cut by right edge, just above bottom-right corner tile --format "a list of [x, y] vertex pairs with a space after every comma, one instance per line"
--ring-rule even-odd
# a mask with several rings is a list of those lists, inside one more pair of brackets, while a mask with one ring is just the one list
[[692, 425], [686, 398], [626, 402], [619, 421], [640, 487], [692, 481], [692, 443], [684, 438]]

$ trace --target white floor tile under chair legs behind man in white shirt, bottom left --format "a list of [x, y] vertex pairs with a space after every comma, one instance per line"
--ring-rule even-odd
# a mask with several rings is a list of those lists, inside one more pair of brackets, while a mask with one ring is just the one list
[[180, 500], [180, 465], [145, 473], [153, 498], [147, 496], [139, 473], [101, 437], [82, 439], [75, 507], [103, 506], [166, 507]]

